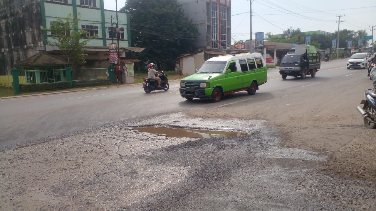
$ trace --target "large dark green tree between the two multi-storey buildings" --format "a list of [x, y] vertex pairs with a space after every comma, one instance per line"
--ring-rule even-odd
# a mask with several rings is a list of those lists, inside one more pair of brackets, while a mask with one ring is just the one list
[[176, 57], [195, 50], [197, 26], [177, 0], [127, 0], [120, 11], [130, 15], [132, 46], [145, 48], [137, 55], [143, 62], [172, 69]]

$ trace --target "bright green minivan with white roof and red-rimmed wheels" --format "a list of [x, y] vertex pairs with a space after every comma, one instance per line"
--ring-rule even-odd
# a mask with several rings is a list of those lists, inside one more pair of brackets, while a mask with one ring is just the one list
[[265, 60], [260, 53], [241, 53], [206, 60], [196, 74], [180, 81], [180, 96], [187, 100], [207, 98], [213, 102], [234, 92], [254, 95], [267, 81]]

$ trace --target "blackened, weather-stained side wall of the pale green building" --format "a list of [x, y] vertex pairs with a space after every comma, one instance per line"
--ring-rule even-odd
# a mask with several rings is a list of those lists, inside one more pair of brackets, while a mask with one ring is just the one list
[[44, 50], [40, 0], [0, 1], [0, 75]]

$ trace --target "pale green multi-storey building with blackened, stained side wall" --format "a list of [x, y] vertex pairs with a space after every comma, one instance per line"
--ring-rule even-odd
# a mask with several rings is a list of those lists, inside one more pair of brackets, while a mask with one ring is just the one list
[[[13, 65], [39, 51], [59, 54], [59, 49], [49, 44], [54, 35], [41, 29], [49, 29], [51, 23], [57, 22], [58, 18], [64, 20], [68, 14], [80, 20], [78, 29], [85, 30], [87, 36], [98, 36], [88, 42], [88, 66], [90, 63], [98, 65], [100, 60], [108, 59], [108, 44], [112, 42], [109, 27], [111, 21], [116, 22], [116, 11], [104, 9], [104, 0], [2, 0], [0, 75], [10, 74]], [[130, 47], [129, 14], [118, 12], [118, 20], [120, 31], [117, 35], [114, 33], [114, 37], [115, 41], [116, 36], [120, 40], [120, 56], [125, 56], [125, 49]], [[80, 41], [83, 40], [85, 38]]]

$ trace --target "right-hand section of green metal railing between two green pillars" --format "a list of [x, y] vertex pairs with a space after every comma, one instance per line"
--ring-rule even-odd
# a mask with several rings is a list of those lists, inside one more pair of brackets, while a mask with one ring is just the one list
[[72, 69], [72, 81], [108, 79], [108, 68]]

